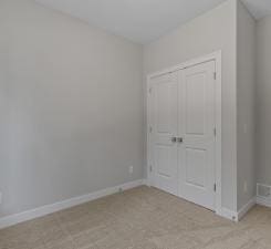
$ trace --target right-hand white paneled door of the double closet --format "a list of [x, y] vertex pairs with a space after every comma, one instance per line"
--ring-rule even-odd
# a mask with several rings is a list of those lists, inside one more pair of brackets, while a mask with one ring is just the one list
[[215, 209], [215, 61], [179, 71], [179, 196]]

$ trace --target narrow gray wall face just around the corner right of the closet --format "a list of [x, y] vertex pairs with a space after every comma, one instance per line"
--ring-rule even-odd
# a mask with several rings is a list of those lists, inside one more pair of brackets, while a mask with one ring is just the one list
[[237, 8], [237, 207], [256, 195], [256, 21]]

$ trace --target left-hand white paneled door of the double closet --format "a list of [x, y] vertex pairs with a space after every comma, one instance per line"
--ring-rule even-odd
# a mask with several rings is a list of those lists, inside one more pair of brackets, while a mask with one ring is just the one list
[[173, 195], [178, 194], [178, 73], [168, 73], [152, 80], [154, 154], [154, 185]]

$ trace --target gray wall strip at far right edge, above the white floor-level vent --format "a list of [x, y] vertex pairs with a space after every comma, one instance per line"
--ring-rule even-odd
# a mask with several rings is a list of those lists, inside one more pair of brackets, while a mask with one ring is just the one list
[[271, 17], [257, 22], [257, 173], [271, 185]]

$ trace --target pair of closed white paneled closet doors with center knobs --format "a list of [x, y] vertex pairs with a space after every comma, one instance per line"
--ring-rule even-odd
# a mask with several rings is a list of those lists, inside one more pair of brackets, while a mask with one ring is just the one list
[[215, 210], [215, 61], [150, 81], [152, 184]]

